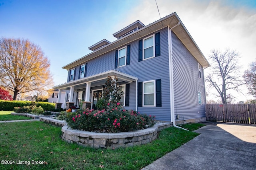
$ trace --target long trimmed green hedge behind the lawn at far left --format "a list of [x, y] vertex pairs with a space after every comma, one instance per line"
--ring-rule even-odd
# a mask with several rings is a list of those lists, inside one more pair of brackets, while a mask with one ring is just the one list
[[[6, 100], [0, 100], [0, 110], [4, 111], [13, 111], [14, 107], [23, 107], [23, 106], [30, 106], [31, 101], [6, 101]], [[48, 103], [48, 102], [38, 102], [36, 103], [36, 106], [41, 106], [44, 110], [50, 110], [55, 108], [54, 103]]]

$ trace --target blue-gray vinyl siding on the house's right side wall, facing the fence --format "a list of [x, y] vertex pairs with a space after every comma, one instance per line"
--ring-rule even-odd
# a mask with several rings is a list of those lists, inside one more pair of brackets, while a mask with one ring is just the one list
[[[172, 55], [175, 115], [184, 115], [185, 120], [205, 117], [203, 69], [202, 78], [199, 78], [198, 61], [173, 32]], [[198, 104], [198, 91], [201, 92], [202, 104]]]

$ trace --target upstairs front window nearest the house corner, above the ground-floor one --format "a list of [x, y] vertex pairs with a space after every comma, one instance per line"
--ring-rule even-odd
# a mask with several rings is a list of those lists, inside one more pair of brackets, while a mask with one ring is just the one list
[[143, 60], [150, 59], [155, 57], [155, 35], [151, 35], [150, 37], [146, 37], [142, 41], [143, 47]]

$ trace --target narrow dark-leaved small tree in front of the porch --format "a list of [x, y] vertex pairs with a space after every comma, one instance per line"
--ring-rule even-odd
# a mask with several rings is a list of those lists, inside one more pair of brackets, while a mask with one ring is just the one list
[[106, 102], [111, 102], [112, 104], [116, 104], [120, 102], [122, 96], [124, 96], [124, 92], [122, 91], [122, 86], [118, 83], [118, 78], [108, 76], [106, 83], [104, 85], [103, 91], [103, 100]]

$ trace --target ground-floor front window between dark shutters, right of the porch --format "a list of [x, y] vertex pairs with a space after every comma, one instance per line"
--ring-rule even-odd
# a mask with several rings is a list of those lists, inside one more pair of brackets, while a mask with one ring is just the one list
[[156, 80], [143, 82], [142, 92], [143, 106], [156, 106]]

